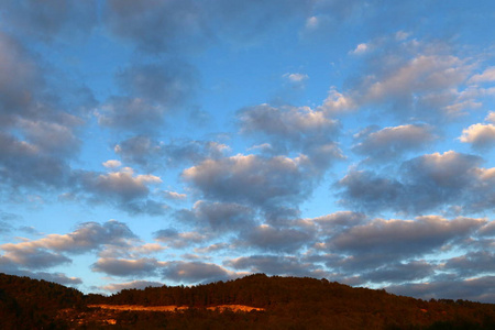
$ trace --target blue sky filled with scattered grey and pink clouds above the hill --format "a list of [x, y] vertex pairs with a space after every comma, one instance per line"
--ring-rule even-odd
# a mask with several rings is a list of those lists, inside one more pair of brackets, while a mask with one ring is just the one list
[[0, 2], [0, 272], [495, 302], [495, 3]]

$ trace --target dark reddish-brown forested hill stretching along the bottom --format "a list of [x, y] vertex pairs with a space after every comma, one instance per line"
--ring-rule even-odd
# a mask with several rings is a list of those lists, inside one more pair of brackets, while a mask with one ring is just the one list
[[[88, 305], [186, 306], [179, 312], [102, 311]], [[264, 311], [220, 312], [246, 305]], [[109, 321], [111, 319], [111, 322]], [[19, 323], [21, 322], [21, 323]], [[113, 324], [114, 323], [114, 324]], [[22, 324], [22, 326], [20, 326]], [[24, 327], [24, 324], [28, 324]], [[495, 305], [420, 300], [327, 279], [255, 274], [193, 287], [106, 297], [0, 274], [0, 329], [495, 329]]]

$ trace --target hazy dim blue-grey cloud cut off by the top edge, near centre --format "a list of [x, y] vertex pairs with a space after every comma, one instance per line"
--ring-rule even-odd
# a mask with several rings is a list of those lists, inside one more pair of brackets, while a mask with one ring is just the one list
[[114, 35], [147, 53], [198, 52], [217, 38], [237, 45], [256, 43], [283, 22], [304, 18], [312, 2], [111, 0], [105, 21]]

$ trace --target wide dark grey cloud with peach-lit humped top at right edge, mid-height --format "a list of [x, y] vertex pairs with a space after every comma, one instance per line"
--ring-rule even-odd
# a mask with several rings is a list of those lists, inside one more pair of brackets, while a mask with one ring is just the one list
[[479, 156], [453, 151], [406, 161], [398, 174], [351, 170], [338, 186], [342, 202], [367, 211], [422, 213], [431, 210], [483, 211], [493, 208], [493, 169], [477, 167]]

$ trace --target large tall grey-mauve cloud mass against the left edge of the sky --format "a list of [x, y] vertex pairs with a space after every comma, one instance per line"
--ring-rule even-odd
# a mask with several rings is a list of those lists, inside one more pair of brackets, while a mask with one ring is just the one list
[[[79, 92], [63, 96], [57, 86], [63, 79], [48, 68], [0, 32], [0, 170], [3, 190], [10, 196], [26, 194], [24, 188], [50, 190], [67, 185], [68, 162], [80, 147], [77, 133], [84, 120], [74, 113], [84, 103], [70, 103]], [[72, 89], [73, 82], [65, 82]]]

